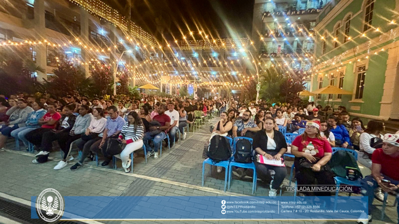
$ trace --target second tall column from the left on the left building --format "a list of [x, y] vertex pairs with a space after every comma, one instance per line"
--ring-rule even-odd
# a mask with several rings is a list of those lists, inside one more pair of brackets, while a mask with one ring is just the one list
[[[88, 44], [88, 12], [80, 7], [80, 39], [82, 43]], [[88, 51], [84, 47], [80, 47], [80, 56], [82, 60], [82, 66], [84, 69], [84, 73], [86, 77], [90, 76], [90, 70], [88, 70], [88, 63], [90, 62], [90, 58], [88, 55]], [[87, 63], [87, 64], [86, 64]]]

